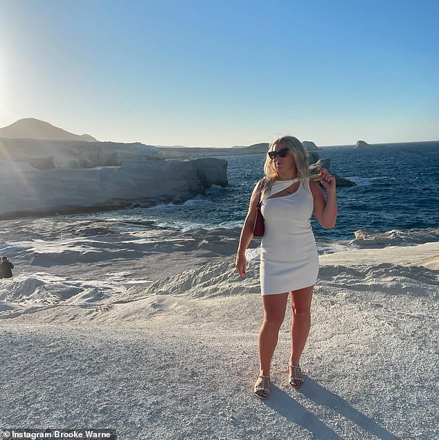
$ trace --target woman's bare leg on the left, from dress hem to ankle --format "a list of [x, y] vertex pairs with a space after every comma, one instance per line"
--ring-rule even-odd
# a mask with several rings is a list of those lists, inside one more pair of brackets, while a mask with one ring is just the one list
[[279, 329], [285, 318], [288, 293], [265, 295], [262, 297], [264, 322], [259, 331], [258, 345], [260, 356], [259, 374], [270, 374], [271, 358], [278, 344]]

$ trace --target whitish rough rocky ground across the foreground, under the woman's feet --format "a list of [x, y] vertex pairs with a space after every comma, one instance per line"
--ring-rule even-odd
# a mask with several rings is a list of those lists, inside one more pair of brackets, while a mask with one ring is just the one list
[[287, 311], [271, 395], [260, 401], [258, 248], [241, 279], [239, 231], [62, 217], [0, 226], [0, 252], [16, 266], [15, 279], [0, 280], [3, 429], [117, 428], [120, 440], [438, 437], [439, 273], [428, 267], [437, 243], [321, 256], [305, 385], [287, 383]]

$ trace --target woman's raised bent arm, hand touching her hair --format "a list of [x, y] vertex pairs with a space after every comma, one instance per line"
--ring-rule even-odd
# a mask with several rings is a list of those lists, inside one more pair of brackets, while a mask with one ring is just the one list
[[323, 228], [334, 228], [337, 219], [337, 195], [335, 177], [322, 168], [320, 181], [325, 187], [327, 199], [318, 183], [310, 181], [310, 189], [314, 198], [314, 215]]

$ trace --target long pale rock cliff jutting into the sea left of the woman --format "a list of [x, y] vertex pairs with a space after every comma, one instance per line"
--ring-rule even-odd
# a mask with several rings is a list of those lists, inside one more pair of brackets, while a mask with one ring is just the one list
[[186, 201], [211, 185], [227, 185], [227, 162], [130, 161], [118, 167], [35, 169], [0, 161], [0, 219], [44, 212]]

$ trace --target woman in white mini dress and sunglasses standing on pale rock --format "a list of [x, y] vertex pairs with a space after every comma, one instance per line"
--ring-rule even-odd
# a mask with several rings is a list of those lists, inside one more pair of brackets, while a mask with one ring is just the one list
[[[320, 176], [308, 172], [308, 155], [293, 136], [274, 140], [264, 165], [264, 183], [251, 194], [249, 212], [242, 227], [236, 268], [244, 277], [245, 251], [253, 238], [259, 196], [265, 219], [260, 246], [260, 286], [264, 321], [259, 331], [260, 369], [254, 387], [259, 398], [269, 396], [271, 358], [285, 317], [288, 294], [292, 307], [292, 348], [289, 357], [289, 384], [303, 385], [299, 366], [310, 332], [312, 290], [319, 272], [319, 258], [312, 233], [312, 212], [321, 226], [333, 228], [337, 218], [335, 178], [322, 168]], [[327, 199], [316, 180], [321, 180]]]

